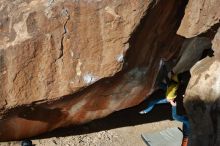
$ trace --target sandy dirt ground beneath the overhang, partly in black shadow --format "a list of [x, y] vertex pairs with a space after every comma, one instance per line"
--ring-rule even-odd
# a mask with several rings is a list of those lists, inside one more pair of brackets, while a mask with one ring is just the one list
[[[57, 129], [31, 140], [35, 146], [146, 146], [142, 133], [181, 127], [181, 123], [171, 120], [168, 104], [157, 105], [147, 115], [139, 115], [147, 102], [88, 124]], [[0, 146], [19, 145], [19, 141], [0, 143]]]

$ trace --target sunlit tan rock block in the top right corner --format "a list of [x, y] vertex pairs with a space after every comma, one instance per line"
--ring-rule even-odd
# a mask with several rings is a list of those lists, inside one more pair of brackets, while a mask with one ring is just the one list
[[187, 38], [208, 31], [220, 21], [219, 0], [189, 0], [178, 34]]

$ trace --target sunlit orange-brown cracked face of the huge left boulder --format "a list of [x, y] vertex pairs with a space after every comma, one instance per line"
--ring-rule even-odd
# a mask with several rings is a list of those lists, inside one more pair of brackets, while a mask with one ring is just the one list
[[68, 95], [123, 65], [147, 1], [1, 1], [1, 103]]

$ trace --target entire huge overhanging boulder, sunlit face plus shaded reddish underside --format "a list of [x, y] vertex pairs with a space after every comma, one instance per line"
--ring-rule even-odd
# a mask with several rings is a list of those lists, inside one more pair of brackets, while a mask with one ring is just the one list
[[186, 2], [2, 0], [0, 140], [137, 105], [178, 55]]

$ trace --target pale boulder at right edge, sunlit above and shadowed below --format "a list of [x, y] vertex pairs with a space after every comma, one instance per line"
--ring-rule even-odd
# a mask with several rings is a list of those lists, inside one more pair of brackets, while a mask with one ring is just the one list
[[220, 31], [213, 40], [215, 56], [207, 57], [191, 69], [185, 106], [191, 124], [191, 145], [219, 145], [220, 125]]

